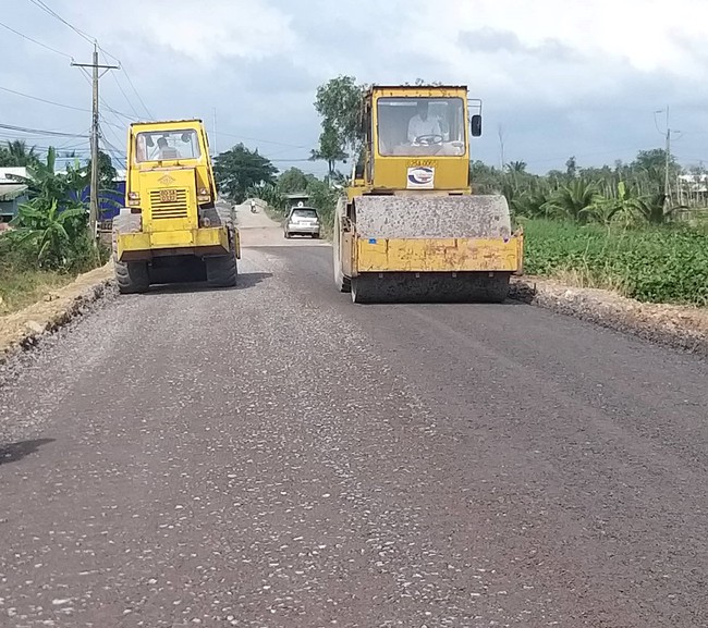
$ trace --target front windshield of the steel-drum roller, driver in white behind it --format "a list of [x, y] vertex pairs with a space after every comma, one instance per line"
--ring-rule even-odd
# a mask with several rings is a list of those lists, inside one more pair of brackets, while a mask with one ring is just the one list
[[465, 119], [462, 98], [379, 98], [382, 156], [462, 156]]

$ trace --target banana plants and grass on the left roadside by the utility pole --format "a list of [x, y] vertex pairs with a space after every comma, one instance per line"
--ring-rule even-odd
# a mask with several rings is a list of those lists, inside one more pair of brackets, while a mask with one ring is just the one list
[[88, 233], [88, 208], [82, 193], [90, 165], [75, 163], [57, 173], [53, 148], [42, 161], [22, 143], [0, 150], [0, 159], [4, 165], [26, 167], [27, 177], [19, 183], [27, 185], [28, 194], [10, 229], [0, 233], [1, 315], [39, 300], [47, 291], [106, 263], [109, 251]]

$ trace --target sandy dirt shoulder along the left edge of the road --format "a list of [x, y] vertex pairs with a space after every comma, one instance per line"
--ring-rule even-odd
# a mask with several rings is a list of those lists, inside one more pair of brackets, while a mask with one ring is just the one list
[[113, 262], [78, 275], [72, 283], [45, 294], [42, 300], [0, 317], [0, 364], [46, 332], [66, 324], [110, 290]]

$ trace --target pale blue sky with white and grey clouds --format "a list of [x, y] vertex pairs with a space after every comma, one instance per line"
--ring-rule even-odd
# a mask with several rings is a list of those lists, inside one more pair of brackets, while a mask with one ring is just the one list
[[313, 102], [344, 74], [467, 85], [483, 100], [473, 159], [489, 164], [631, 161], [664, 146], [667, 108], [672, 153], [708, 163], [706, 0], [4, 0], [0, 124], [37, 133], [0, 140], [86, 155], [87, 137], [46, 132], [87, 136], [90, 83], [71, 63], [95, 39], [121, 65], [99, 90], [117, 160], [131, 121], [196, 116], [218, 151], [243, 141], [322, 175]]

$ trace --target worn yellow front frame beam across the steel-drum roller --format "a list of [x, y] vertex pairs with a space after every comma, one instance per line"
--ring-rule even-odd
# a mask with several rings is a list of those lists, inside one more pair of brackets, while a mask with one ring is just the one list
[[520, 272], [523, 236], [501, 238], [359, 238], [357, 273]]

